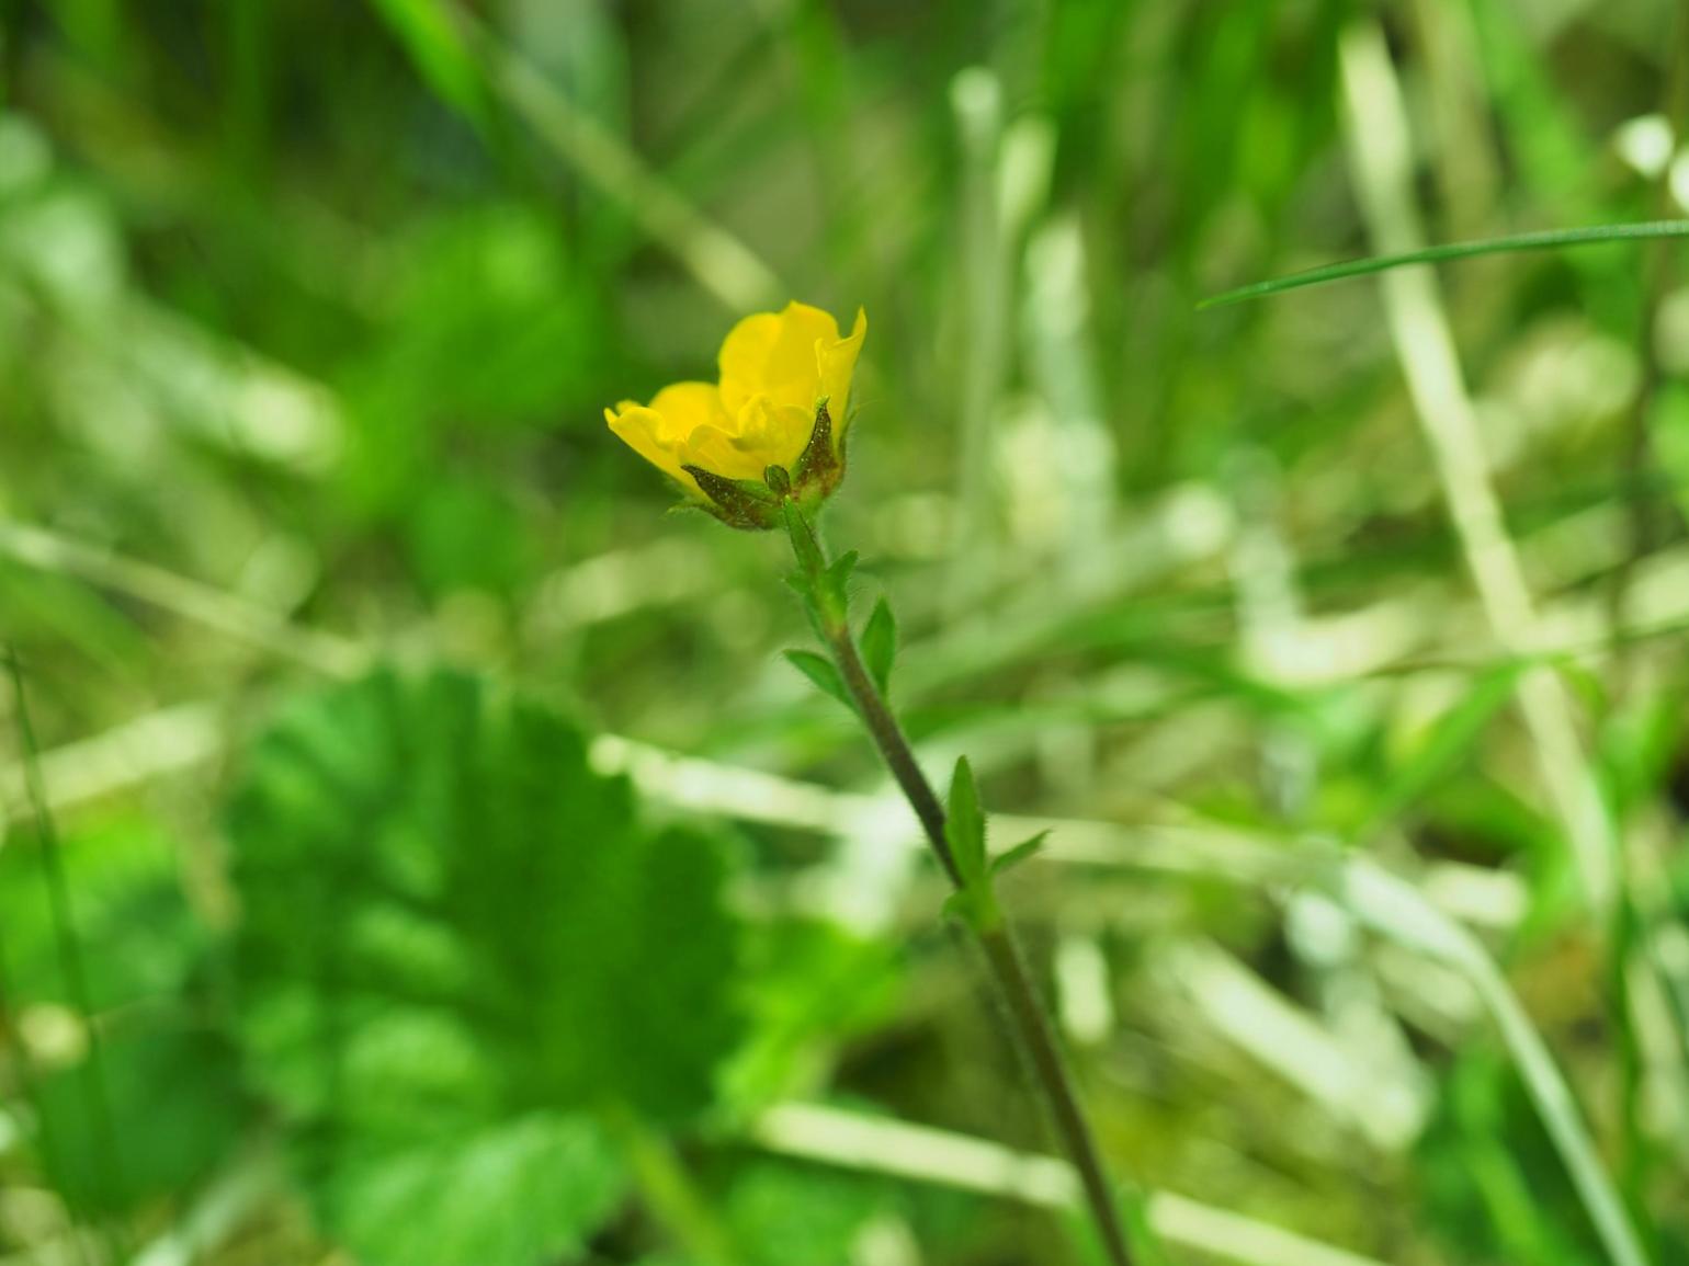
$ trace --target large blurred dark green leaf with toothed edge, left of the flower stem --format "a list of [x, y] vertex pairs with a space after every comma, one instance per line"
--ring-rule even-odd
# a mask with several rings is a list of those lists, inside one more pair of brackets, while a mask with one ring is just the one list
[[[304, 699], [257, 744], [228, 822], [248, 1065], [368, 1266], [571, 1256], [615, 1200], [568, 1192], [622, 1183], [579, 1114], [713, 1102], [740, 1033], [726, 863], [633, 809], [573, 726], [458, 674]], [[491, 1227], [512, 1190], [534, 1227], [412, 1256], [414, 1227]]]

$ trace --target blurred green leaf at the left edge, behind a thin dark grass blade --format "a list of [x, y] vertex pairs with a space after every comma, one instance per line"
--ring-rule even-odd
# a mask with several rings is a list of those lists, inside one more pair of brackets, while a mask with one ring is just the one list
[[[81, 1033], [42, 1070], [41, 1153], [73, 1209], [122, 1215], [203, 1180], [250, 1111], [201, 987], [208, 939], [177, 886], [172, 844], [125, 819], [68, 836], [61, 859], [69, 933], [103, 1030], [98, 1050]], [[0, 849], [5, 1003], [76, 1026], [39, 861], [24, 832]]]

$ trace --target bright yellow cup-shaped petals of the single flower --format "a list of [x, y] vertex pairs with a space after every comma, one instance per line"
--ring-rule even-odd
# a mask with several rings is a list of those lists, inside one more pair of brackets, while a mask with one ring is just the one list
[[850, 338], [819, 307], [790, 302], [733, 326], [721, 344], [721, 381], [674, 383], [649, 405], [623, 400], [605, 410], [628, 447], [689, 495], [708, 500], [687, 466], [725, 479], [762, 483], [763, 471], [792, 471], [826, 400], [838, 452], [850, 422], [850, 380], [868, 333], [858, 309]]

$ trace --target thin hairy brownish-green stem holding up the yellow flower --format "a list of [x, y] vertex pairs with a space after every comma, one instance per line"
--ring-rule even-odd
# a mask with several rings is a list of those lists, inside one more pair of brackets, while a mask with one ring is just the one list
[[[826, 554], [821, 549], [821, 542], [809, 522], [799, 513], [787, 515], [787, 528], [792, 535], [792, 549], [799, 567], [812, 592], [811, 609], [816, 616], [817, 631], [833, 655], [844, 689], [856, 701], [856, 711], [875, 748], [880, 749], [882, 760], [915, 810], [927, 844], [932, 846], [934, 858], [937, 858], [951, 885], [961, 890], [963, 876], [956, 866], [949, 839], [944, 834], [944, 809], [932, 790], [932, 783], [927, 782], [926, 773], [922, 773], [921, 765], [915, 761], [909, 738], [885, 702], [885, 695], [880, 694], [866, 665], [861, 662], [856, 640], [850, 631], [843, 594], [833, 587], [836, 582], [828, 574]], [[831, 592], [829, 587], [833, 587]], [[1005, 918], [995, 918], [988, 925], [969, 922], [968, 927], [985, 952], [991, 981], [997, 986], [998, 998], [1027, 1067], [1044, 1096], [1044, 1106], [1061, 1136], [1067, 1158], [1079, 1173], [1084, 1198], [1096, 1222], [1098, 1234], [1103, 1239], [1108, 1261], [1111, 1266], [1132, 1266], [1132, 1251], [1127, 1247], [1127, 1232], [1120, 1217], [1120, 1207], [1115, 1202], [1113, 1183], [1098, 1153], [1091, 1123], [1086, 1119], [1084, 1107], [1079, 1102], [1073, 1072], [1067, 1069], [1067, 1060], [1056, 1040], [1049, 1011], [1027, 972], [1025, 957], [1020, 952], [1013, 928]]]

